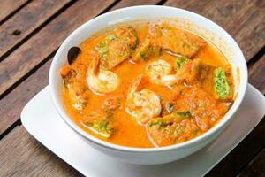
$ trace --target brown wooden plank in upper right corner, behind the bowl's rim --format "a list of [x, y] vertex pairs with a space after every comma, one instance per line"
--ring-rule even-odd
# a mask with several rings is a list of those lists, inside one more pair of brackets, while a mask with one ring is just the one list
[[265, 45], [265, 1], [169, 0], [166, 5], [196, 12], [215, 21], [239, 43], [247, 61]]

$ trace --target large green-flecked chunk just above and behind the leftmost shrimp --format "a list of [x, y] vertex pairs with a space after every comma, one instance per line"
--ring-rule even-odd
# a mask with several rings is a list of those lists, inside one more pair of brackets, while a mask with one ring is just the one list
[[138, 37], [133, 27], [118, 27], [95, 46], [100, 55], [100, 66], [110, 70], [130, 58], [138, 44]]

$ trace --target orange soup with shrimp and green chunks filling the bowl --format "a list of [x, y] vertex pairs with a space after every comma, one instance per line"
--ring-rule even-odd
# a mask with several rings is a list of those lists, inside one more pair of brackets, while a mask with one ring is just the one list
[[169, 23], [117, 26], [68, 53], [63, 102], [88, 134], [128, 147], [186, 142], [234, 97], [231, 65], [211, 42]]

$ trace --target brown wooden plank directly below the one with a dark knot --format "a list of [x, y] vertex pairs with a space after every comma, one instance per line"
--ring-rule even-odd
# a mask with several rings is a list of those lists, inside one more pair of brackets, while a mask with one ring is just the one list
[[56, 50], [75, 28], [95, 17], [113, 2], [114, 0], [78, 1], [13, 51], [0, 63], [0, 95]]

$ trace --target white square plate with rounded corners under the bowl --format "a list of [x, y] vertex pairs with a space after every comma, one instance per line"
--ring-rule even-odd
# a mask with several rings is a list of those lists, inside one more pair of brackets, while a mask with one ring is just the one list
[[214, 142], [189, 157], [163, 165], [125, 164], [94, 150], [60, 118], [51, 102], [49, 86], [24, 107], [21, 121], [34, 138], [86, 176], [201, 176], [256, 127], [265, 114], [264, 105], [264, 96], [248, 84], [239, 111]]

